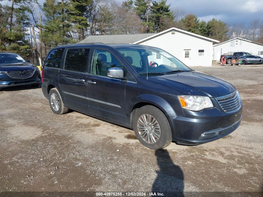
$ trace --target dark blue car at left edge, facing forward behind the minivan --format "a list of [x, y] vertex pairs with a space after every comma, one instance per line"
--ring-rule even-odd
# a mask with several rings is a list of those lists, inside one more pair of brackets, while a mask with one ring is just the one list
[[0, 89], [3, 87], [31, 85], [41, 82], [39, 69], [16, 53], [0, 52]]

